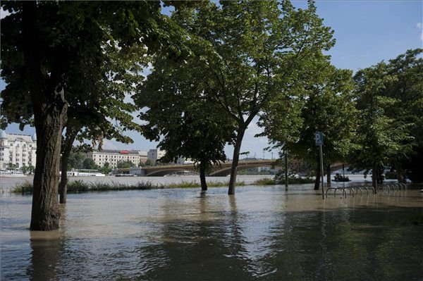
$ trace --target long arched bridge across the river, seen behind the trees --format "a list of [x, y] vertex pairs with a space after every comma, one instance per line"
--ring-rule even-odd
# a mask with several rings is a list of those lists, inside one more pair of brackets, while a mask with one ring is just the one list
[[[277, 166], [276, 166], [277, 165]], [[223, 162], [220, 165], [212, 166], [212, 171], [209, 173], [210, 177], [225, 177], [231, 174], [232, 162]], [[276, 163], [276, 160], [262, 159], [262, 160], [248, 160], [239, 161], [238, 170], [246, 170], [257, 167], [277, 167], [281, 168], [283, 164]], [[305, 164], [303, 161], [293, 160], [288, 161], [288, 170], [300, 171], [303, 170]], [[342, 168], [342, 163], [334, 163], [331, 166], [331, 170], [338, 170]], [[129, 173], [130, 168], [118, 169], [118, 173]], [[184, 172], [184, 171], [197, 171], [197, 167], [193, 164], [183, 165], [164, 165], [164, 166], [144, 166], [141, 168], [142, 175], [147, 177], [160, 177], [172, 173]], [[326, 170], [325, 170], [326, 171]]]

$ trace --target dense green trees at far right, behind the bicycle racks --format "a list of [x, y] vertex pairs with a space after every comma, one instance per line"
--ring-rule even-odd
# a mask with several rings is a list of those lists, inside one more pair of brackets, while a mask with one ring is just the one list
[[374, 187], [381, 182], [386, 166], [395, 167], [403, 182], [403, 165], [419, 155], [422, 147], [422, 52], [409, 50], [354, 76], [359, 123], [357, 149], [350, 163], [357, 169], [372, 170]]

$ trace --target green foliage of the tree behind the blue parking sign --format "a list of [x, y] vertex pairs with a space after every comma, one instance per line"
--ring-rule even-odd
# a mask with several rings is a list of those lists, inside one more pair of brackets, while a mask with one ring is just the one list
[[276, 147], [290, 156], [318, 163], [314, 134], [324, 132], [324, 161], [333, 163], [348, 155], [355, 130], [352, 73], [339, 70], [324, 56], [315, 56], [300, 73], [290, 96], [274, 99], [264, 108], [260, 123]]

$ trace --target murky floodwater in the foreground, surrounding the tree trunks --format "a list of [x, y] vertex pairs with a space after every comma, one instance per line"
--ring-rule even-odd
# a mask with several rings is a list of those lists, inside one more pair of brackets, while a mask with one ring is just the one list
[[417, 189], [329, 196], [312, 185], [68, 194], [60, 229], [30, 232], [4, 193], [1, 280], [423, 280]]

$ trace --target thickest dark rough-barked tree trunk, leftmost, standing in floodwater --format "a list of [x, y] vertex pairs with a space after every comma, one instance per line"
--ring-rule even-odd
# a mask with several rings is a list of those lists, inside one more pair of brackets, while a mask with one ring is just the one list
[[59, 228], [60, 217], [57, 188], [61, 133], [68, 105], [61, 83], [63, 73], [58, 66], [61, 62], [55, 62], [57, 65], [49, 77], [42, 74], [37, 16], [36, 2], [23, 2], [23, 54], [37, 132], [37, 164], [30, 229], [56, 230]]

